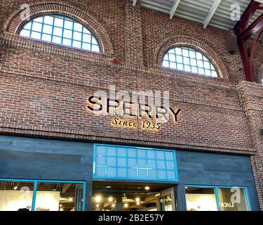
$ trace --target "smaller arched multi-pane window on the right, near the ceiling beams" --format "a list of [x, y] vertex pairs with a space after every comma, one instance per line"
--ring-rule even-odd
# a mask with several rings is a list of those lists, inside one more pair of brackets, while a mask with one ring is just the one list
[[202, 53], [188, 46], [177, 46], [168, 50], [163, 56], [162, 66], [207, 77], [218, 77], [213, 63]]

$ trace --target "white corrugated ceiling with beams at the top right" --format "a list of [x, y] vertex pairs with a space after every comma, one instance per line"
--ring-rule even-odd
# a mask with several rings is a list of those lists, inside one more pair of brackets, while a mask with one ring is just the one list
[[[133, 5], [142, 4], [146, 8], [167, 13], [170, 18], [180, 17], [208, 25], [231, 30], [237, 21], [231, 20], [231, 5], [239, 4], [241, 15], [250, 4], [250, 0], [131, 0]], [[262, 3], [263, 0], [257, 0]], [[252, 23], [263, 11], [256, 11]], [[176, 19], [176, 18], [175, 18]]]

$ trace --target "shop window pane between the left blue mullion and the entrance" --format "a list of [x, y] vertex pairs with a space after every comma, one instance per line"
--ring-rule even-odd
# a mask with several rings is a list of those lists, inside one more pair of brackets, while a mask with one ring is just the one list
[[82, 210], [82, 195], [83, 184], [38, 182], [35, 211]]

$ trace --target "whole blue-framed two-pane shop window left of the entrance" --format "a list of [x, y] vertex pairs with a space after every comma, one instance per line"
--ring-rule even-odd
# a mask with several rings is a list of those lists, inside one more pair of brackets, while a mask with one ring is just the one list
[[0, 180], [0, 211], [83, 211], [83, 182]]

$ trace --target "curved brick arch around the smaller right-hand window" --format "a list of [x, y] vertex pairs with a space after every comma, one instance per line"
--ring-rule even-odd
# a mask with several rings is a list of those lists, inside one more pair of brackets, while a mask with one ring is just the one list
[[154, 62], [158, 67], [161, 68], [163, 56], [166, 54], [168, 49], [176, 46], [189, 46], [193, 49], [196, 49], [197, 51], [200, 51], [204, 56], [207, 56], [207, 58], [211, 60], [213, 65], [215, 65], [215, 68], [218, 72], [218, 77], [229, 79], [227, 68], [217, 53], [211, 49], [210, 46], [203, 43], [203, 41], [187, 36], [176, 36], [164, 39], [161, 44], [159, 44], [159, 46], [156, 48], [156, 51], [154, 52]]

